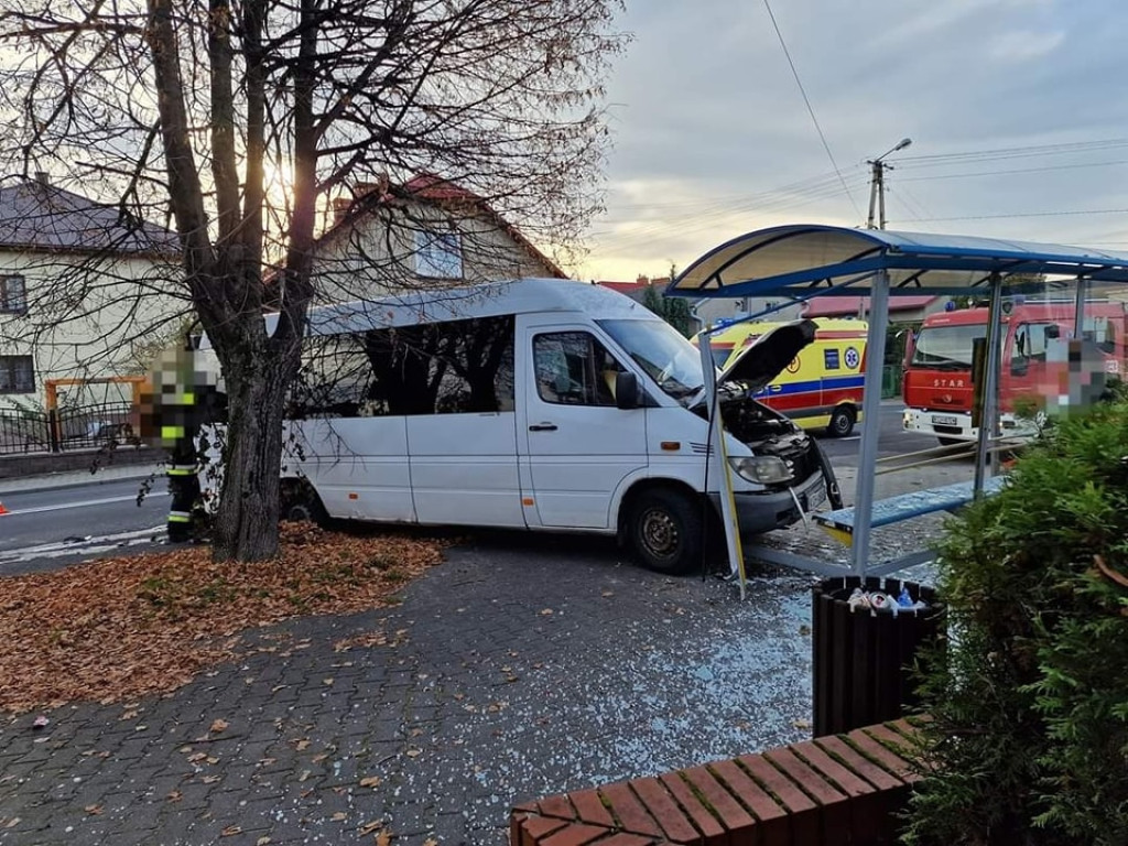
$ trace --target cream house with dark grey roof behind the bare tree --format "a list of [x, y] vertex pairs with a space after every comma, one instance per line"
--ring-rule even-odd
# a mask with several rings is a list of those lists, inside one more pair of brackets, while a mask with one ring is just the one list
[[45, 174], [0, 185], [0, 408], [47, 379], [141, 372], [152, 327], [185, 310], [182, 277], [174, 232]]

